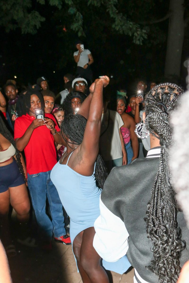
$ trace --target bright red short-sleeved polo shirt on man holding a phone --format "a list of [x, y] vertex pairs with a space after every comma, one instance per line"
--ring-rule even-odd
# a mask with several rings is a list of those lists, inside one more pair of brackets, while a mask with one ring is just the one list
[[[52, 114], [45, 113], [45, 117], [52, 119], [55, 123], [56, 130], [60, 131]], [[34, 116], [28, 114], [18, 117], [14, 124], [14, 139], [21, 138], [34, 119]], [[37, 174], [52, 170], [57, 162], [56, 149], [53, 135], [46, 125], [33, 130], [24, 152], [26, 156], [27, 173]]]

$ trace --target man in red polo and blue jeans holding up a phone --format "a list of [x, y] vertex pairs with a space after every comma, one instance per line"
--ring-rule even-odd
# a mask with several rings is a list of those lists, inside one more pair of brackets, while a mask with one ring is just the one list
[[[55, 144], [61, 144], [59, 127], [52, 114], [36, 119], [36, 110], [44, 110], [43, 96], [38, 91], [27, 91], [25, 95], [25, 113], [15, 120], [14, 138], [19, 151], [26, 156], [27, 182], [37, 223], [44, 244], [51, 245], [54, 239], [70, 245], [66, 234], [63, 209], [58, 192], [50, 179], [50, 171], [56, 164]], [[51, 218], [46, 215], [46, 197], [48, 198]]]

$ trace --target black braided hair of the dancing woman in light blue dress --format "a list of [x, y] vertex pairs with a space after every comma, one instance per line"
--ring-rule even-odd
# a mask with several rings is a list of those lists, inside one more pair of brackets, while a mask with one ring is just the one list
[[[62, 121], [60, 127], [63, 138], [66, 136], [72, 141], [71, 144], [80, 145], [83, 141], [86, 123], [87, 119], [85, 119], [82, 115], [67, 115]], [[104, 161], [101, 155], [98, 155], [96, 159], [95, 179], [97, 186], [101, 189], [103, 189], [107, 176], [108, 174], [105, 169]]]

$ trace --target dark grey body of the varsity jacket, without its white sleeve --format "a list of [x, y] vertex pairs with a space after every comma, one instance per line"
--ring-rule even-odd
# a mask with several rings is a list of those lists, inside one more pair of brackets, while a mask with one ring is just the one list
[[[129, 165], [114, 168], [105, 181], [101, 194], [105, 206], [120, 217], [129, 233], [129, 262], [141, 278], [150, 283], [158, 283], [158, 277], [145, 268], [154, 257], [144, 218], [159, 164], [159, 158], [138, 158]], [[181, 252], [180, 258], [182, 266], [189, 258], [189, 231], [182, 212], [178, 212], [177, 222], [182, 240], [186, 241], [186, 248]]]

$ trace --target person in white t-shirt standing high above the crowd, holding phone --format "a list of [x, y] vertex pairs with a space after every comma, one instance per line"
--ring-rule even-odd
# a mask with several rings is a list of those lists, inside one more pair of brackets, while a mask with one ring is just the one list
[[90, 50], [82, 49], [81, 44], [83, 44], [81, 40], [76, 41], [75, 45], [78, 51], [73, 53], [74, 60], [77, 63], [76, 76], [85, 78], [92, 83], [93, 74], [90, 65], [94, 62], [94, 60]]

